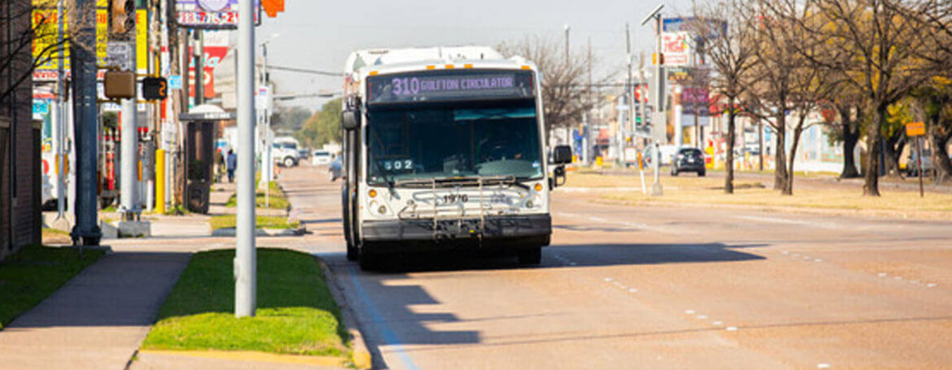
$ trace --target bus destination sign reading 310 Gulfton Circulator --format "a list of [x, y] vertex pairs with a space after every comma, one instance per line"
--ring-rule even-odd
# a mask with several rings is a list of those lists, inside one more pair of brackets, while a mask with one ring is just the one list
[[411, 72], [367, 78], [367, 103], [531, 98], [532, 89], [527, 70]]

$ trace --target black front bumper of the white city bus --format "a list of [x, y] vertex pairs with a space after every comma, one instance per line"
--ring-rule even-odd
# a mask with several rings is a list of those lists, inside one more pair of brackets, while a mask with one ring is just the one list
[[433, 219], [364, 221], [362, 226], [361, 237], [369, 244], [417, 242], [506, 246], [513, 243], [539, 246], [547, 245], [552, 234], [549, 215], [486, 216], [483, 222], [466, 218], [437, 220], [436, 224]]

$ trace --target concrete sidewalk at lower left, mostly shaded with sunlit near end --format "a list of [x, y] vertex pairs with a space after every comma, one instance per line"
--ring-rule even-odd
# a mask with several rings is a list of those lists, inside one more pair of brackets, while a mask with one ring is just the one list
[[104, 256], [0, 331], [0, 369], [125, 368], [189, 256]]

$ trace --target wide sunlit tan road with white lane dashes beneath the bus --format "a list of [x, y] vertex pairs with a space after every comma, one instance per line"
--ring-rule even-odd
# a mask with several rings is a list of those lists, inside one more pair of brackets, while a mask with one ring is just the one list
[[362, 272], [321, 168], [283, 184], [376, 368], [949, 369], [952, 223], [598, 204], [556, 191], [543, 263]]

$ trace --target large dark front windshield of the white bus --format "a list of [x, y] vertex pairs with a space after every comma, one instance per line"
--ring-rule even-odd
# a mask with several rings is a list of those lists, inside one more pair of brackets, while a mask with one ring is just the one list
[[367, 112], [371, 184], [467, 176], [542, 176], [533, 100], [418, 105]]

